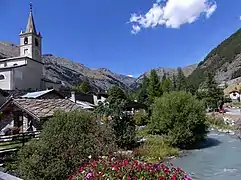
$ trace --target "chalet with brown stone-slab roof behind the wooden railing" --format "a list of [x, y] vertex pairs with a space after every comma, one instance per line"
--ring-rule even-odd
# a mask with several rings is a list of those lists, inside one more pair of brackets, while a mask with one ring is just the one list
[[12, 128], [17, 128], [20, 133], [40, 130], [55, 111], [71, 112], [80, 109], [82, 108], [69, 99], [10, 98], [0, 108], [0, 133], [5, 134]]

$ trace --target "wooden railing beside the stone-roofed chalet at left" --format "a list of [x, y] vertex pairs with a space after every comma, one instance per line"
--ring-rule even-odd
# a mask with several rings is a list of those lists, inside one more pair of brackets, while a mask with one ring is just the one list
[[40, 131], [28, 131], [15, 135], [0, 135], [0, 154], [19, 150], [30, 139], [38, 139]]

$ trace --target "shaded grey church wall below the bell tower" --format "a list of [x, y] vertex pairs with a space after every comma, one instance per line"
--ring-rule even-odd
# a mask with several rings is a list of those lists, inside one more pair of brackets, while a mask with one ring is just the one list
[[14, 87], [17, 89], [41, 89], [43, 65], [33, 60], [27, 61], [27, 66], [14, 69]]

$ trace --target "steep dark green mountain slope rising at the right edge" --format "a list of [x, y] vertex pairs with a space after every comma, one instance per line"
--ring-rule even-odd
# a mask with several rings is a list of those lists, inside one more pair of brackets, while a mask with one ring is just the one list
[[241, 76], [241, 28], [214, 48], [198, 64], [189, 79], [198, 86], [208, 72], [215, 73], [218, 83]]

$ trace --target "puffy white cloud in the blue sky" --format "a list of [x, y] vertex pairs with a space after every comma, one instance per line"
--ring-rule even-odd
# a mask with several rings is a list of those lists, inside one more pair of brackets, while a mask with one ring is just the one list
[[142, 28], [166, 26], [179, 28], [183, 24], [191, 24], [201, 15], [209, 18], [217, 9], [213, 0], [156, 0], [146, 14], [132, 14], [132, 33], [136, 34]]

